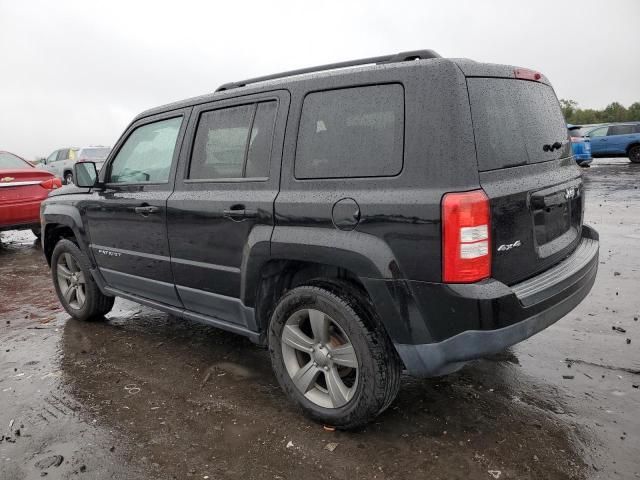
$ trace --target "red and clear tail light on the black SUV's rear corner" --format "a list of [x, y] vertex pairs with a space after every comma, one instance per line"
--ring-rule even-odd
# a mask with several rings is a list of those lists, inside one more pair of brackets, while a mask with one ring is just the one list
[[482, 190], [442, 199], [442, 279], [471, 283], [491, 276], [489, 199]]

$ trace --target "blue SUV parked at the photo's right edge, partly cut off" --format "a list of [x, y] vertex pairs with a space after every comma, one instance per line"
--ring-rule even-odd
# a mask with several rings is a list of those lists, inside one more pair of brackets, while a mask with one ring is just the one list
[[640, 163], [640, 122], [612, 123], [586, 132], [594, 157], [629, 157]]

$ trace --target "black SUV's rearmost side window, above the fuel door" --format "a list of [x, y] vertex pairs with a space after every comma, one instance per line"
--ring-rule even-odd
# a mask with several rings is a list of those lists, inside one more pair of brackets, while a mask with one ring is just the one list
[[296, 150], [296, 178], [378, 177], [402, 170], [401, 85], [307, 95]]

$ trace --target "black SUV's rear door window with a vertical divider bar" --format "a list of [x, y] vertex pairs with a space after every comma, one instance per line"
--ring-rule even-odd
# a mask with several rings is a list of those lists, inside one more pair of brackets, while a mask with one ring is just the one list
[[275, 101], [203, 112], [193, 142], [189, 179], [269, 175]]

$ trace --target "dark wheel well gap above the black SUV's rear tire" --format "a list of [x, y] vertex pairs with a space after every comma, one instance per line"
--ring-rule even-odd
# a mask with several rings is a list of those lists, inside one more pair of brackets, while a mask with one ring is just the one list
[[369, 294], [353, 272], [321, 263], [272, 260], [262, 268], [255, 302], [256, 321], [261, 331], [267, 330], [271, 314], [280, 298], [300, 285], [316, 285], [335, 294], [348, 289], [352, 296], [362, 300], [361, 307], [369, 311], [368, 316], [375, 317]]

